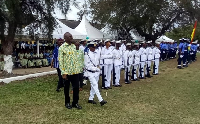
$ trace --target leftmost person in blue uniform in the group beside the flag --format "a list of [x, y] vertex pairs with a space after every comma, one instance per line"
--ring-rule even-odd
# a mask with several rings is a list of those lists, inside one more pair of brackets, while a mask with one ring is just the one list
[[183, 61], [183, 56], [184, 56], [184, 48], [183, 48], [183, 39], [179, 39], [180, 43], [178, 46], [178, 66], [177, 68], [182, 69], [181, 62]]

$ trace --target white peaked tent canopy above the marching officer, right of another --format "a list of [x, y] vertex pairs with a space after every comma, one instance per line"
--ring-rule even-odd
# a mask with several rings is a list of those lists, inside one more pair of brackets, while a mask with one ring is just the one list
[[105, 38], [110, 38], [109, 35], [99, 31], [97, 28], [93, 27], [88, 20], [86, 19], [85, 16], [83, 16], [81, 23], [75, 28], [77, 32], [80, 32], [89, 39], [105, 39]]

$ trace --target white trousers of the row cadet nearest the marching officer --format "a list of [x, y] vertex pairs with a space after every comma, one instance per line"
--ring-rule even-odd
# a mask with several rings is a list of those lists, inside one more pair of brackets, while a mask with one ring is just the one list
[[104, 75], [106, 76], [105, 87], [110, 87], [112, 68], [113, 64], [104, 65]]

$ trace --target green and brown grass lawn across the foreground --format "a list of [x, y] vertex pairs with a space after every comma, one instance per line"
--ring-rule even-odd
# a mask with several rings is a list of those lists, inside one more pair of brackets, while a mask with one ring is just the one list
[[64, 107], [56, 75], [1, 85], [0, 123], [200, 123], [200, 62], [182, 70], [176, 66], [176, 60], [163, 62], [158, 76], [101, 91], [105, 106], [87, 103], [87, 85], [80, 92], [82, 110]]

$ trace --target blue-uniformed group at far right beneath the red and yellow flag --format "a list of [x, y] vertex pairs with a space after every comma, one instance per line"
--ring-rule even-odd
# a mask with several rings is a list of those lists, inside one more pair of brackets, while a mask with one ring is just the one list
[[190, 42], [189, 39], [179, 39], [180, 44], [178, 46], [178, 66], [177, 68], [182, 69], [188, 67], [189, 64], [195, 62], [196, 54], [198, 50], [198, 41]]

